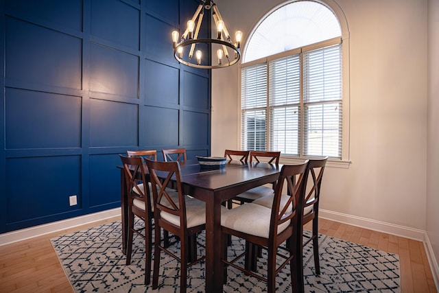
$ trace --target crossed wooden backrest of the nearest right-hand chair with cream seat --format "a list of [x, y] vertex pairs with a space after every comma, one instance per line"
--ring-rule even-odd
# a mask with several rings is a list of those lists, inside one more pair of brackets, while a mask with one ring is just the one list
[[[300, 235], [302, 226], [302, 207], [305, 197], [305, 183], [307, 180], [308, 161], [297, 165], [283, 165], [279, 174], [276, 188], [274, 189], [274, 200], [270, 220], [270, 238], [278, 236], [278, 230], [283, 230], [282, 237]], [[287, 184], [289, 196], [283, 196], [283, 185]], [[287, 201], [282, 198], [288, 198]], [[283, 226], [283, 227], [282, 227]], [[285, 226], [288, 226], [285, 228]], [[295, 238], [297, 239], [297, 238]], [[285, 241], [285, 239], [283, 240]], [[281, 241], [282, 242], [282, 241]]]

